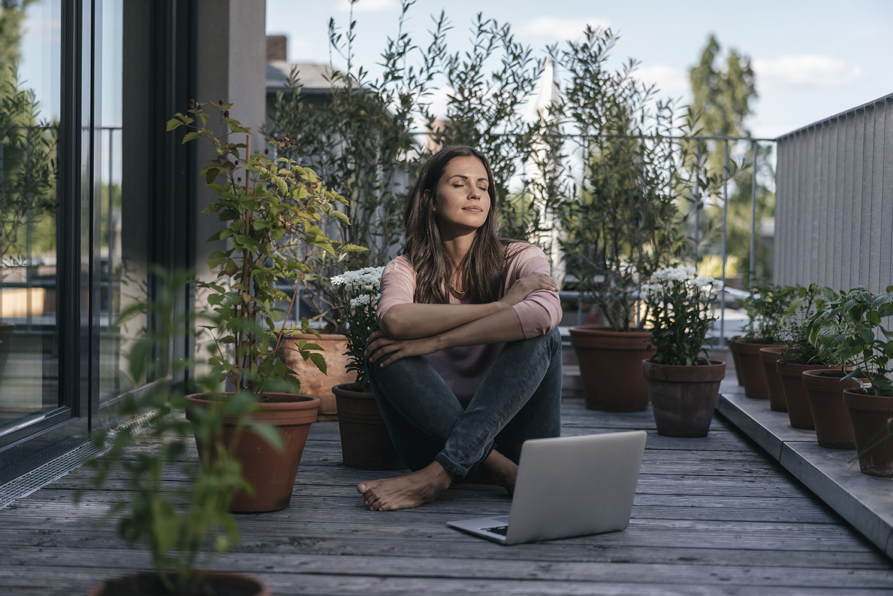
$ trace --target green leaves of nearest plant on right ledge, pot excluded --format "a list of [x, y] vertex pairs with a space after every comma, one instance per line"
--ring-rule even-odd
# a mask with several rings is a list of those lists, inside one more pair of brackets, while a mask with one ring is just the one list
[[[806, 325], [809, 339], [822, 355], [854, 367], [847, 378], [855, 378], [864, 393], [893, 397], [890, 359], [893, 333], [883, 325], [893, 315], [893, 286], [885, 294], [873, 294], [865, 286], [832, 294]], [[868, 379], [866, 384], [860, 377]]]

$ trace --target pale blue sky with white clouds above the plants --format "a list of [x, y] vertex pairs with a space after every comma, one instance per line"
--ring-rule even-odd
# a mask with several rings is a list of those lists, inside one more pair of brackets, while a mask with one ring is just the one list
[[[289, 62], [329, 63], [329, 19], [346, 29], [349, 8], [349, 0], [267, 0], [267, 33], [288, 36]], [[454, 26], [451, 51], [469, 46], [478, 12], [509, 23], [540, 55], [549, 44], [580, 37], [587, 23], [611, 27], [620, 35], [611, 63], [637, 59], [640, 79], [683, 103], [690, 101], [689, 68], [713, 33], [723, 62], [730, 48], [752, 61], [759, 97], [746, 124], [755, 137], [778, 137], [893, 93], [893, 0], [418, 0], [405, 26], [413, 41], [427, 42], [430, 15], [441, 10]], [[356, 55], [372, 74], [399, 13], [399, 0], [354, 6]]]

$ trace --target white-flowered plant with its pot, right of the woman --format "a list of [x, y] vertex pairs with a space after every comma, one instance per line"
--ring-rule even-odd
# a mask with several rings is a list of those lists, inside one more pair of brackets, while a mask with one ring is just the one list
[[708, 360], [705, 337], [720, 286], [682, 266], [655, 271], [642, 286], [655, 347], [642, 371], [661, 435], [706, 436], [710, 428], [725, 362]]

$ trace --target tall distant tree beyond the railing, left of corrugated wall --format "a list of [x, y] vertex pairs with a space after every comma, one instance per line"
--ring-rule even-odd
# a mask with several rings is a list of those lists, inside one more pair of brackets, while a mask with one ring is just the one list
[[[750, 58], [739, 54], [738, 50], [730, 48], [724, 63], [722, 60], [722, 47], [714, 35], [707, 39], [706, 46], [701, 52], [697, 65], [689, 70], [689, 83], [693, 97], [692, 111], [699, 116], [698, 128], [700, 134], [708, 137], [749, 137], [750, 130], [745, 121], [753, 113], [753, 102], [757, 98], [756, 78], [751, 67]], [[747, 151], [747, 160], [750, 147], [741, 143], [732, 143], [730, 151]], [[757, 147], [758, 176], [756, 195], [756, 225], [764, 219], [772, 218], [775, 208], [775, 195], [761, 184], [761, 180], [772, 176], [772, 166], [768, 157], [772, 152], [770, 147]], [[705, 153], [704, 163], [711, 171], [720, 173], [724, 166], [725, 147], [722, 142], [705, 143], [702, 151]], [[743, 155], [739, 155], [743, 157]], [[739, 258], [740, 262], [748, 263], [750, 258], [750, 198], [753, 185], [752, 170], [746, 170], [744, 175], [734, 180], [729, 186], [729, 211], [727, 228], [727, 252]], [[762, 199], [762, 200], [761, 200]], [[713, 221], [722, 221], [722, 204], [713, 205], [706, 209], [709, 218]], [[704, 222], [705, 223], [705, 222]], [[720, 252], [721, 225], [712, 230], [703, 230], [702, 237], [706, 236], [707, 250]], [[767, 274], [771, 268], [772, 254], [768, 247], [757, 242], [755, 252], [755, 267], [758, 272]]]

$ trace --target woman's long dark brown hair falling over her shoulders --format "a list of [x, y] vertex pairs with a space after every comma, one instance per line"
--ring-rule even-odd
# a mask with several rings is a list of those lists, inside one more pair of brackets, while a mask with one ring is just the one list
[[475, 233], [472, 248], [462, 264], [465, 298], [474, 304], [498, 300], [499, 289], [503, 284], [506, 251], [510, 244], [515, 244], [499, 237], [497, 191], [487, 156], [474, 147], [444, 147], [421, 166], [413, 195], [406, 203], [403, 253], [415, 269], [415, 302], [449, 302], [447, 285], [453, 279], [453, 263], [447, 259], [447, 253], [443, 250], [434, 202], [440, 177], [447, 169], [447, 163], [455, 157], [476, 157], [484, 164], [487, 170], [487, 193], [490, 196], [487, 219]]

